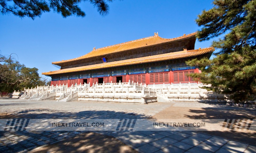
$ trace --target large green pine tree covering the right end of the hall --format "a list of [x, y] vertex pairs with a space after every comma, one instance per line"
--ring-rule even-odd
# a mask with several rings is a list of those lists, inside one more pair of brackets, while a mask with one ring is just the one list
[[214, 7], [203, 10], [196, 22], [201, 27], [199, 41], [221, 37], [212, 46], [215, 58], [193, 59], [187, 65], [199, 66], [202, 73], [192, 74], [204, 87], [229, 94], [236, 102], [255, 99], [256, 95], [256, 1], [215, 0]]

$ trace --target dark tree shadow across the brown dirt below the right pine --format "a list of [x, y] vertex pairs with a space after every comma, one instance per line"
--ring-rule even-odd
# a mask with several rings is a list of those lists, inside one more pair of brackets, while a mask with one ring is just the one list
[[[255, 109], [239, 109], [239, 108], [229, 108], [229, 109], [214, 109], [214, 108], [201, 108], [200, 110], [190, 109], [189, 112], [194, 113], [194, 115], [184, 115], [189, 119], [209, 119], [208, 122], [211, 122], [210, 119], [247, 119], [246, 122], [249, 122], [252, 119], [256, 118]], [[229, 120], [229, 121], [232, 121]], [[226, 123], [228, 124], [228, 123]], [[242, 123], [241, 123], [242, 124]], [[230, 124], [229, 124], [230, 125]], [[238, 125], [238, 124], [237, 124]], [[256, 131], [238, 129], [237, 126], [234, 129], [227, 128], [225, 131], [199, 131], [202, 133], [215, 135], [223, 137], [226, 139], [231, 139], [234, 141], [240, 141], [243, 143], [256, 145]]]

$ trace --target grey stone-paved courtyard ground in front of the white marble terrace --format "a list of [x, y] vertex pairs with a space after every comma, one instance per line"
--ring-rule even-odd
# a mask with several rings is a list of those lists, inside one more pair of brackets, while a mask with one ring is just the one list
[[[215, 107], [179, 103], [182, 107]], [[122, 104], [0, 99], [1, 119], [147, 119], [172, 103]], [[176, 104], [175, 104], [176, 105]], [[174, 105], [174, 107], [175, 107]], [[221, 107], [221, 106], [216, 106]], [[27, 152], [86, 131], [1, 131], [0, 152]], [[255, 152], [256, 146], [194, 131], [97, 131], [138, 152]]]

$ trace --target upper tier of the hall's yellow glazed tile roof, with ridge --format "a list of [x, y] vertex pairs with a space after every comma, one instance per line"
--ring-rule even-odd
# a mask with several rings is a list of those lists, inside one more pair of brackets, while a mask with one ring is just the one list
[[154, 36], [138, 39], [138, 40], [133, 40], [121, 44], [116, 44], [108, 47], [103, 47], [103, 48], [98, 48], [93, 50], [83, 56], [73, 58], [73, 59], [68, 59], [68, 60], [62, 60], [62, 61], [57, 61], [57, 62], [52, 62], [52, 64], [60, 64], [60, 63], [66, 63], [70, 61], [76, 61], [80, 59], [86, 59], [90, 57], [95, 57], [95, 56], [105, 56], [111, 53], [117, 53], [117, 52], [122, 52], [125, 50], [131, 50], [131, 49], [136, 49], [136, 48], [142, 48], [142, 47], [148, 47], [156, 44], [162, 44], [162, 43], [167, 43], [167, 42], [173, 42], [173, 41], [178, 41], [178, 40], [183, 40], [183, 39], [188, 39], [190, 37], [195, 37], [196, 32], [190, 33], [188, 35], [183, 35], [180, 37], [172, 38], [172, 39], [165, 39], [162, 37], [159, 37], [157, 33], [155, 33]]

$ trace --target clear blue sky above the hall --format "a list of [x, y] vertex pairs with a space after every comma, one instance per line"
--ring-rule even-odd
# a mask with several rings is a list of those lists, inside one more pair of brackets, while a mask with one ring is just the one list
[[[101, 48], [132, 41], [158, 32], [174, 38], [195, 32], [195, 19], [203, 9], [213, 7], [211, 0], [155, 1], [124, 0], [110, 3], [110, 14], [101, 17], [89, 2], [80, 7], [86, 17], [62, 18], [53, 11], [41, 18], [0, 15], [0, 50], [3, 55], [17, 54], [26, 67], [38, 73], [58, 70], [51, 62], [72, 59]], [[196, 42], [195, 48], [211, 46], [210, 41]]]

